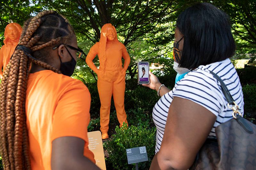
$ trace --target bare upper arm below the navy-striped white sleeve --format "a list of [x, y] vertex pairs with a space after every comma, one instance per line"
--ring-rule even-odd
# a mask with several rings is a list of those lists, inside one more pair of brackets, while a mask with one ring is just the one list
[[209, 135], [216, 116], [195, 102], [174, 97], [160, 151], [150, 169], [188, 169]]

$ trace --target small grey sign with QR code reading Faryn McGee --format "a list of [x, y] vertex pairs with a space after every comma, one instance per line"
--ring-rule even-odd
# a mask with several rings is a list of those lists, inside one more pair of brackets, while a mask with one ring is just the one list
[[148, 161], [146, 146], [126, 149], [128, 164]]

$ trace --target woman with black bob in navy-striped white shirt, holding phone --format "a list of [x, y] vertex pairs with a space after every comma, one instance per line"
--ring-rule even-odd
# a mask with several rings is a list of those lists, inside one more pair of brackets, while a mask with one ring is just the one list
[[179, 69], [191, 70], [172, 90], [150, 73], [161, 96], [153, 109], [156, 155], [150, 169], [188, 169], [206, 138], [232, 118], [216, 73], [244, 113], [242, 87], [230, 57], [235, 52], [229, 17], [208, 3], [195, 4], [177, 19], [174, 56]]

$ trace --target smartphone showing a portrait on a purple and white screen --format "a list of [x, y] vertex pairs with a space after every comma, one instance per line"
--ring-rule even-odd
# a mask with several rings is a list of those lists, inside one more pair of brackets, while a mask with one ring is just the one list
[[149, 63], [139, 62], [138, 63], [138, 83], [149, 84]]

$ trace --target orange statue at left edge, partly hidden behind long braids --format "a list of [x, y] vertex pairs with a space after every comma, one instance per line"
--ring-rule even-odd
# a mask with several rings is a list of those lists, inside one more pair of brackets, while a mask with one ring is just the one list
[[[9, 63], [10, 58], [18, 45], [22, 28], [20, 24], [10, 23], [5, 27], [4, 31], [4, 45], [0, 49], [0, 78], [3, 78], [3, 72], [6, 65]], [[3, 68], [3, 71], [2, 71]]]

